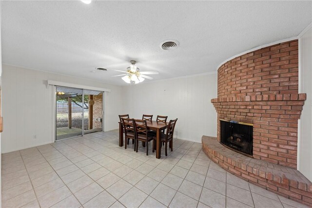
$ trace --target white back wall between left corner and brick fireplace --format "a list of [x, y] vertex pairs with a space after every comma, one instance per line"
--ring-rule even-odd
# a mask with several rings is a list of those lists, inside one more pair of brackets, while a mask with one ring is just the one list
[[216, 111], [210, 102], [217, 97], [216, 74], [141, 83], [123, 90], [123, 113], [130, 117], [178, 118], [175, 137], [185, 140], [201, 142], [202, 135], [216, 136]]

